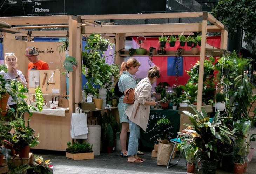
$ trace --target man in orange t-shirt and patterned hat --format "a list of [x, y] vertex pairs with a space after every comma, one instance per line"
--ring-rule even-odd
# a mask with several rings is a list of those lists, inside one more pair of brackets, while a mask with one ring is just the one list
[[30, 70], [30, 69], [36, 69], [36, 70], [46, 69], [46, 70], [48, 70], [49, 69], [49, 65], [37, 57], [38, 53], [36, 53], [34, 47], [26, 48], [25, 52], [26, 53], [24, 55], [26, 55], [26, 57], [30, 61], [28, 63], [28, 70]]

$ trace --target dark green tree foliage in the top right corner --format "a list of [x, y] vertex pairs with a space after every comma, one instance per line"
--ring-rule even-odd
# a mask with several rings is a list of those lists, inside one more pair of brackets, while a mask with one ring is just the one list
[[255, 15], [256, 3], [251, 0], [220, 0], [213, 8], [213, 16], [232, 28], [228, 31], [229, 37], [233, 38], [242, 29], [244, 41], [252, 46], [252, 53], [256, 53]]

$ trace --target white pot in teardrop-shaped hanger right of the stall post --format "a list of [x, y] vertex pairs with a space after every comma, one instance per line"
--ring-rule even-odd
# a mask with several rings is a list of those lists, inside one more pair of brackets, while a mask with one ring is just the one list
[[[225, 52], [223, 54], [224, 57], [224, 61], [223, 63], [225, 63]], [[215, 112], [217, 112], [217, 110], [221, 111], [220, 112], [220, 116], [224, 115], [226, 113], [227, 110], [227, 95], [228, 95], [228, 88], [227, 88], [227, 84], [224, 83], [223, 79], [224, 76], [223, 75], [223, 63], [222, 63], [222, 68], [221, 68], [221, 82], [218, 83], [216, 85], [216, 91], [215, 91]], [[217, 93], [222, 93], [225, 95], [225, 101], [221, 101], [221, 102], [216, 102], [217, 101]]]

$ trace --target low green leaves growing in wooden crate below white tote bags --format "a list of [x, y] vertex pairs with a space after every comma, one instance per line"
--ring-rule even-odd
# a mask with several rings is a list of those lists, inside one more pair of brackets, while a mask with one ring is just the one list
[[74, 153], [86, 153], [86, 152], [92, 152], [92, 148], [93, 148], [93, 144], [90, 145], [89, 142], [83, 142], [83, 143], [79, 143], [79, 142], [74, 142], [71, 145], [71, 142], [67, 142], [68, 148], [66, 149], [66, 151], [69, 152], [74, 152]]

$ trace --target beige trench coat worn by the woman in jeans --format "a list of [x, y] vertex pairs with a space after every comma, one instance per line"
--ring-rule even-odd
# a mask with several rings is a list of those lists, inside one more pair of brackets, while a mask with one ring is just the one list
[[[151, 101], [152, 85], [148, 78], [142, 79], [134, 90], [135, 101], [130, 104], [126, 109], [126, 115], [133, 123], [140, 126], [146, 131], [150, 113], [150, 105], [144, 105], [146, 101]], [[140, 105], [139, 105], [140, 104]], [[137, 106], [139, 109], [136, 113]], [[136, 113], [136, 116], [134, 117]]]

